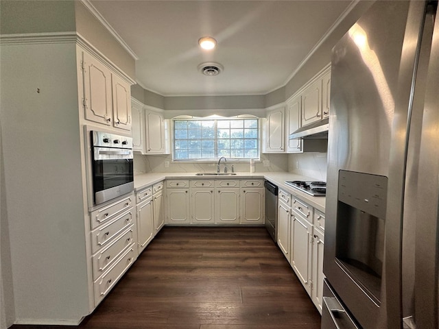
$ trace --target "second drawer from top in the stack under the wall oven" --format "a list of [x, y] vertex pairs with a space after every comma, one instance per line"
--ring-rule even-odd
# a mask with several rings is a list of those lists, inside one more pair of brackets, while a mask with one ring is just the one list
[[132, 212], [117, 217], [114, 221], [110, 221], [106, 225], [97, 228], [91, 232], [91, 251], [94, 254], [106, 245], [110, 245], [113, 237], [117, 236], [121, 231], [125, 230], [132, 224]]

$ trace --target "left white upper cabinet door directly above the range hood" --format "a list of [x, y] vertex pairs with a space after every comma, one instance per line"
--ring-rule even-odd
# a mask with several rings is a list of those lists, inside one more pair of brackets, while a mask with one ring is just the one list
[[302, 126], [322, 119], [322, 80], [318, 80], [302, 93]]

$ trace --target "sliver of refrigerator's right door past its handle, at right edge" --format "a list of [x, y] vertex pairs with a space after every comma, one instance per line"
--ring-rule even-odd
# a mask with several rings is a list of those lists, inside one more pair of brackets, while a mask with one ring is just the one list
[[429, 58], [416, 208], [415, 313], [413, 315], [416, 328], [439, 328], [439, 18], [437, 11]]

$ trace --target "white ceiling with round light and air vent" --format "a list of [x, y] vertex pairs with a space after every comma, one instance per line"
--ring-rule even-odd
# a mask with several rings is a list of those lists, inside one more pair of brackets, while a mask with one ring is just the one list
[[[265, 95], [284, 86], [352, 1], [89, 1], [163, 96]], [[217, 47], [203, 51], [202, 36]], [[224, 71], [207, 77], [203, 62]]]

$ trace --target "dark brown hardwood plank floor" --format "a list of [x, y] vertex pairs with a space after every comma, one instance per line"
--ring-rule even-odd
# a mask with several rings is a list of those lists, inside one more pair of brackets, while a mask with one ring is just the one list
[[265, 228], [165, 227], [78, 327], [320, 328], [320, 315]]

